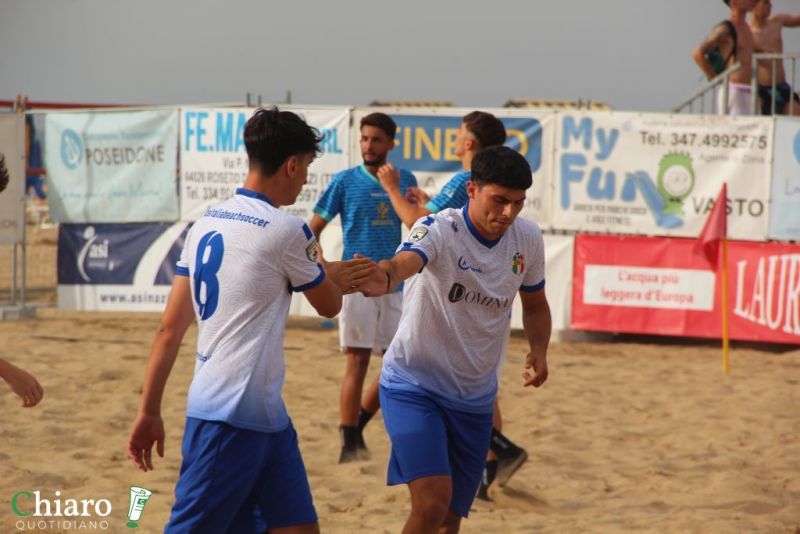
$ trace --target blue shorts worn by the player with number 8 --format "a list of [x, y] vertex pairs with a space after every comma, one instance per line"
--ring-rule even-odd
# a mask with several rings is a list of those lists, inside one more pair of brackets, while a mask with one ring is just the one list
[[317, 520], [297, 432], [186, 418], [183, 463], [165, 533], [264, 532]]

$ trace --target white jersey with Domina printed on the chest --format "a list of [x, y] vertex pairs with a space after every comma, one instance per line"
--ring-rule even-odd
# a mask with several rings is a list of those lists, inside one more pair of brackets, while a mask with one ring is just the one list
[[407, 282], [400, 327], [383, 358], [381, 384], [491, 411], [518, 291], [544, 288], [544, 240], [517, 218], [496, 241], [483, 238], [467, 207], [417, 221], [398, 248], [425, 266]]

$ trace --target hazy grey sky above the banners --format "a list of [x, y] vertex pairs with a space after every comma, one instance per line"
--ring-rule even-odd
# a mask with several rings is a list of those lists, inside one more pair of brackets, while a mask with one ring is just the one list
[[[774, 12], [800, 13], [800, 0], [773, 4]], [[721, 0], [0, 7], [0, 99], [128, 104], [244, 102], [248, 91], [280, 102], [291, 89], [301, 104], [588, 98], [666, 111], [701, 86], [691, 52], [726, 17]], [[784, 45], [800, 52], [800, 28], [784, 31]]]

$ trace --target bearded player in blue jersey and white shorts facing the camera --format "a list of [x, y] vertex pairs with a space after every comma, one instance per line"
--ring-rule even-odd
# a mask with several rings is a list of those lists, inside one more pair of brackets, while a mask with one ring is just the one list
[[[347, 260], [356, 254], [375, 261], [394, 254], [401, 239], [401, 219], [392, 209], [388, 195], [381, 188], [377, 174], [394, 148], [397, 126], [385, 113], [371, 113], [361, 119], [359, 141], [364, 164], [338, 173], [314, 207], [309, 222], [317, 236], [337, 215], [342, 218], [344, 253]], [[397, 172], [398, 188], [405, 192], [416, 186], [417, 180], [408, 171]], [[401, 289], [379, 299], [361, 294], [347, 295], [339, 317], [339, 339], [347, 363], [342, 380], [340, 433], [342, 448], [339, 463], [368, 457], [361, 433], [366, 421], [359, 413], [362, 405], [364, 377], [371, 353], [382, 354], [397, 331]], [[363, 400], [368, 413], [377, 410], [377, 385], [369, 388]]]

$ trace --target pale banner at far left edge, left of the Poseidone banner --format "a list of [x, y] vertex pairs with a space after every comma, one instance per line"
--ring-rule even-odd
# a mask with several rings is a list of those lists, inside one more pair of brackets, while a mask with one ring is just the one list
[[22, 242], [25, 234], [25, 117], [0, 114], [0, 154], [5, 155], [8, 186], [0, 192], [0, 245]]

